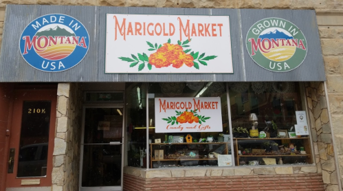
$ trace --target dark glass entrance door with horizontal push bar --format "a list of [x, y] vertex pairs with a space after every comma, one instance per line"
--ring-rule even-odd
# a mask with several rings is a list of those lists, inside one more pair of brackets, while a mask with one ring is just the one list
[[122, 107], [87, 107], [81, 146], [80, 190], [122, 190]]

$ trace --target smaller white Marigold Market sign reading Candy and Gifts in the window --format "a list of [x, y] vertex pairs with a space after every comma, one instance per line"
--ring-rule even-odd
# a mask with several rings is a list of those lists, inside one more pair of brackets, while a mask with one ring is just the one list
[[155, 98], [155, 132], [221, 132], [220, 98]]

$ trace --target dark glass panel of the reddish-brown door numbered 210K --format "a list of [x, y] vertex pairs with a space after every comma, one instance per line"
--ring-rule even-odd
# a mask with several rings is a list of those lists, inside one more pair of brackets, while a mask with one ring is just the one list
[[49, 101], [23, 102], [17, 177], [47, 174], [50, 108]]

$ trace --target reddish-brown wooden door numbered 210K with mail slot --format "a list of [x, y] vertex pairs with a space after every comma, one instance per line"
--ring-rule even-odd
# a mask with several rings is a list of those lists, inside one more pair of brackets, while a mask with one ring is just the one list
[[6, 190], [52, 186], [56, 94], [56, 89], [14, 92]]

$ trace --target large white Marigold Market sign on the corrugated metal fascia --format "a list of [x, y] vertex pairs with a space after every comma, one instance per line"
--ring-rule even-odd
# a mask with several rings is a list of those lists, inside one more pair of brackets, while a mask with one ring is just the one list
[[229, 16], [107, 14], [105, 73], [233, 73]]

